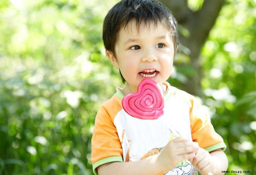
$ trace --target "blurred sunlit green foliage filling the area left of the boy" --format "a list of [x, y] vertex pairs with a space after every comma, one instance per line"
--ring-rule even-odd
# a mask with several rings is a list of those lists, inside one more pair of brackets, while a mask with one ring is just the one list
[[4, 174], [92, 173], [94, 118], [114, 92], [110, 85], [121, 83], [118, 72], [106, 67], [101, 40], [111, 2], [0, 3]]

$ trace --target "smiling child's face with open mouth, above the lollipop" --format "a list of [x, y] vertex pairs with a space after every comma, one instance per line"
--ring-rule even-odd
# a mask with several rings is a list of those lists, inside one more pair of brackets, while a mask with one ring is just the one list
[[115, 68], [127, 81], [129, 93], [137, 92], [142, 79], [151, 78], [162, 84], [173, 68], [174, 45], [169, 31], [160, 22], [157, 26], [141, 24], [138, 32], [134, 21], [120, 29], [115, 44], [116, 57], [106, 52]]

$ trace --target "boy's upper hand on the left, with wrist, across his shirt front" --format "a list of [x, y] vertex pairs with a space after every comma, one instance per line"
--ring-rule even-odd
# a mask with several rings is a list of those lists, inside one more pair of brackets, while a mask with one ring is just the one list
[[198, 149], [198, 144], [186, 138], [177, 137], [169, 142], [158, 154], [157, 162], [162, 171], [168, 171], [173, 169], [179, 162], [194, 158]]

